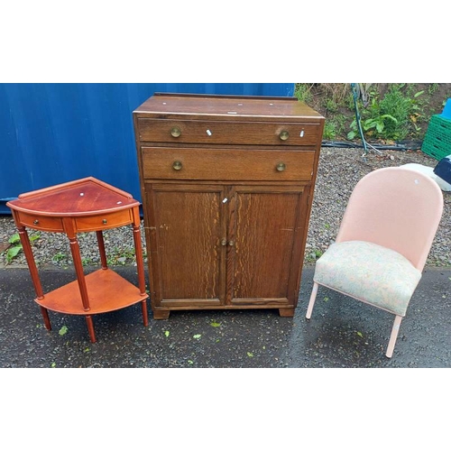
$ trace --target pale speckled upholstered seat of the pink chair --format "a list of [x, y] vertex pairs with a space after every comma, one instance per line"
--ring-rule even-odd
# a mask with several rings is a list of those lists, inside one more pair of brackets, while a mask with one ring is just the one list
[[331, 244], [314, 281], [404, 317], [421, 272], [403, 255], [364, 241]]

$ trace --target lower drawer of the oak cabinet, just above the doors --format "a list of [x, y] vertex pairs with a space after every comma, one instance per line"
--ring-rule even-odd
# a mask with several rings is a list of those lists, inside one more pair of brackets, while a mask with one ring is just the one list
[[143, 147], [144, 179], [308, 181], [315, 152]]

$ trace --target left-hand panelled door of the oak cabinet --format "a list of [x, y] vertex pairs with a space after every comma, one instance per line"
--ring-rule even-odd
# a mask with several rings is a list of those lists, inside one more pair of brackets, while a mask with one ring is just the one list
[[[225, 298], [224, 188], [150, 186], [151, 264], [157, 306], [222, 303]], [[154, 227], [154, 228], [153, 228]]]

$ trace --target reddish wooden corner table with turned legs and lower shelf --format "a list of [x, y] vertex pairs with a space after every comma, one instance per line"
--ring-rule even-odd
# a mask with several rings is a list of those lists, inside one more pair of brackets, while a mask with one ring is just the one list
[[[140, 232], [140, 202], [107, 183], [87, 177], [21, 194], [7, 202], [18, 228], [23, 252], [32, 276], [45, 327], [51, 330], [48, 310], [84, 315], [92, 343], [96, 343], [92, 315], [129, 307], [141, 302], [143, 324], [148, 325], [147, 299]], [[138, 287], [107, 267], [103, 231], [132, 225], [138, 272]], [[45, 232], [65, 233], [77, 280], [44, 294], [34, 262], [32, 246], [26, 228]], [[96, 232], [101, 269], [85, 275], [77, 234]]]

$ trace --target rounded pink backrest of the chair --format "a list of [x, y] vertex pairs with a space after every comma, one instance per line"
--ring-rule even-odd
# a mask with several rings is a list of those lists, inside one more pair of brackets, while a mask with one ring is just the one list
[[367, 241], [404, 255], [419, 271], [443, 212], [437, 182], [416, 170], [373, 170], [353, 190], [336, 242]]

